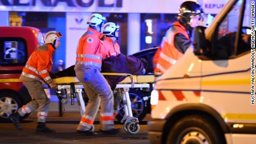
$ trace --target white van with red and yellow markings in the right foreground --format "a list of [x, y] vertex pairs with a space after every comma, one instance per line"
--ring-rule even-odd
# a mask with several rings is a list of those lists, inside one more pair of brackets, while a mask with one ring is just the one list
[[230, 0], [194, 29], [193, 46], [151, 93], [151, 143], [256, 143], [254, 12], [254, 1]]

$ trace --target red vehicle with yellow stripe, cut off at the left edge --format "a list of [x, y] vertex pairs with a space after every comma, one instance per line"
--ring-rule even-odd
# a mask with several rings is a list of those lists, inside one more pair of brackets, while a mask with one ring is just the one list
[[31, 53], [42, 44], [40, 29], [0, 27], [0, 122], [9, 121], [9, 115], [31, 101], [19, 76]]

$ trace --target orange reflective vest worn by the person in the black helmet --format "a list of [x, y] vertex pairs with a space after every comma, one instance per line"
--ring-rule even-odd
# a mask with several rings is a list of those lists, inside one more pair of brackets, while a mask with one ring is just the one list
[[170, 66], [183, 56], [175, 47], [175, 36], [181, 33], [190, 41], [190, 37], [186, 28], [180, 24], [180, 22], [174, 22], [173, 25], [166, 32], [165, 38], [163, 39], [161, 46], [157, 49], [153, 58], [154, 71], [158, 74], [163, 74]]

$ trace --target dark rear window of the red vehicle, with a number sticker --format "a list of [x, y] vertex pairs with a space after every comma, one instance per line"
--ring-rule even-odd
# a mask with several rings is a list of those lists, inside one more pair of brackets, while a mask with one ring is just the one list
[[24, 66], [27, 44], [23, 38], [0, 38], [0, 66]]

